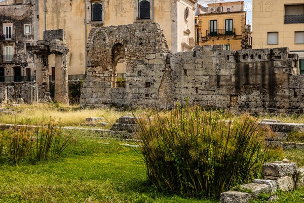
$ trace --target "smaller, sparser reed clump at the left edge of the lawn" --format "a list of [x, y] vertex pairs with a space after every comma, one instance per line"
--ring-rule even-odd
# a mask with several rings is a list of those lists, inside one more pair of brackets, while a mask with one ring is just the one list
[[18, 162], [21, 159], [45, 160], [57, 158], [73, 142], [72, 134], [50, 119], [48, 126], [15, 126], [0, 134], [0, 156]]

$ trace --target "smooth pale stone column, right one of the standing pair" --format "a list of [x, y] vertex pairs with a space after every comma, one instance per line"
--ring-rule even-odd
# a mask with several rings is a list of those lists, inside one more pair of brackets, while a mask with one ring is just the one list
[[55, 63], [55, 101], [68, 104], [68, 77], [66, 54], [56, 54]]

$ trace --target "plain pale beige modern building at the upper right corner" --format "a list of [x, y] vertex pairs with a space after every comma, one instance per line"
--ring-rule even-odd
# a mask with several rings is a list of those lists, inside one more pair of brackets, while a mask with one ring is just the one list
[[304, 1], [253, 0], [253, 48], [288, 47], [304, 74]]

